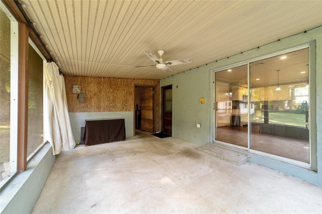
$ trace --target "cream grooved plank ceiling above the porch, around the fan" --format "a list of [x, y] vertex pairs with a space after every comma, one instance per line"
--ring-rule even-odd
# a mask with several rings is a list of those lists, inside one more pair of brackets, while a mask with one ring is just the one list
[[[322, 25], [322, 1], [20, 1], [68, 76], [160, 79]], [[166, 73], [165, 61], [192, 58]]]

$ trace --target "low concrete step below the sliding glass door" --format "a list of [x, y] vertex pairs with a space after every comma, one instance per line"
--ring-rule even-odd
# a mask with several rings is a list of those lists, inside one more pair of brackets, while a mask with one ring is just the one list
[[240, 166], [248, 161], [246, 154], [226, 148], [224, 146], [216, 145], [214, 143], [207, 143], [204, 146], [198, 147], [197, 150], [237, 166]]

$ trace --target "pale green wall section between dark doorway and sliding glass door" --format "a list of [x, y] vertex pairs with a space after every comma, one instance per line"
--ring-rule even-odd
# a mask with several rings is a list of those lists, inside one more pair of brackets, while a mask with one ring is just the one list
[[[199, 70], [198, 70], [199, 71]], [[210, 73], [185, 72], [162, 80], [162, 86], [172, 84], [172, 136], [203, 145], [209, 142]], [[200, 103], [200, 98], [205, 103]], [[197, 123], [200, 128], [197, 128]]]

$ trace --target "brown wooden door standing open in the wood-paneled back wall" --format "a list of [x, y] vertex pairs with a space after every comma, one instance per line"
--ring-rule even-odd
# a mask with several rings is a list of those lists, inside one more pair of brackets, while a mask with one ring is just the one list
[[153, 133], [153, 88], [141, 90], [141, 130]]

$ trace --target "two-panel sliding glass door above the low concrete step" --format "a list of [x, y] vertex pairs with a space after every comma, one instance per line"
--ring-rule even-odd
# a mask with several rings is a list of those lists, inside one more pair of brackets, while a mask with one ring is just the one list
[[215, 142], [310, 163], [308, 47], [218, 70], [214, 79]]

